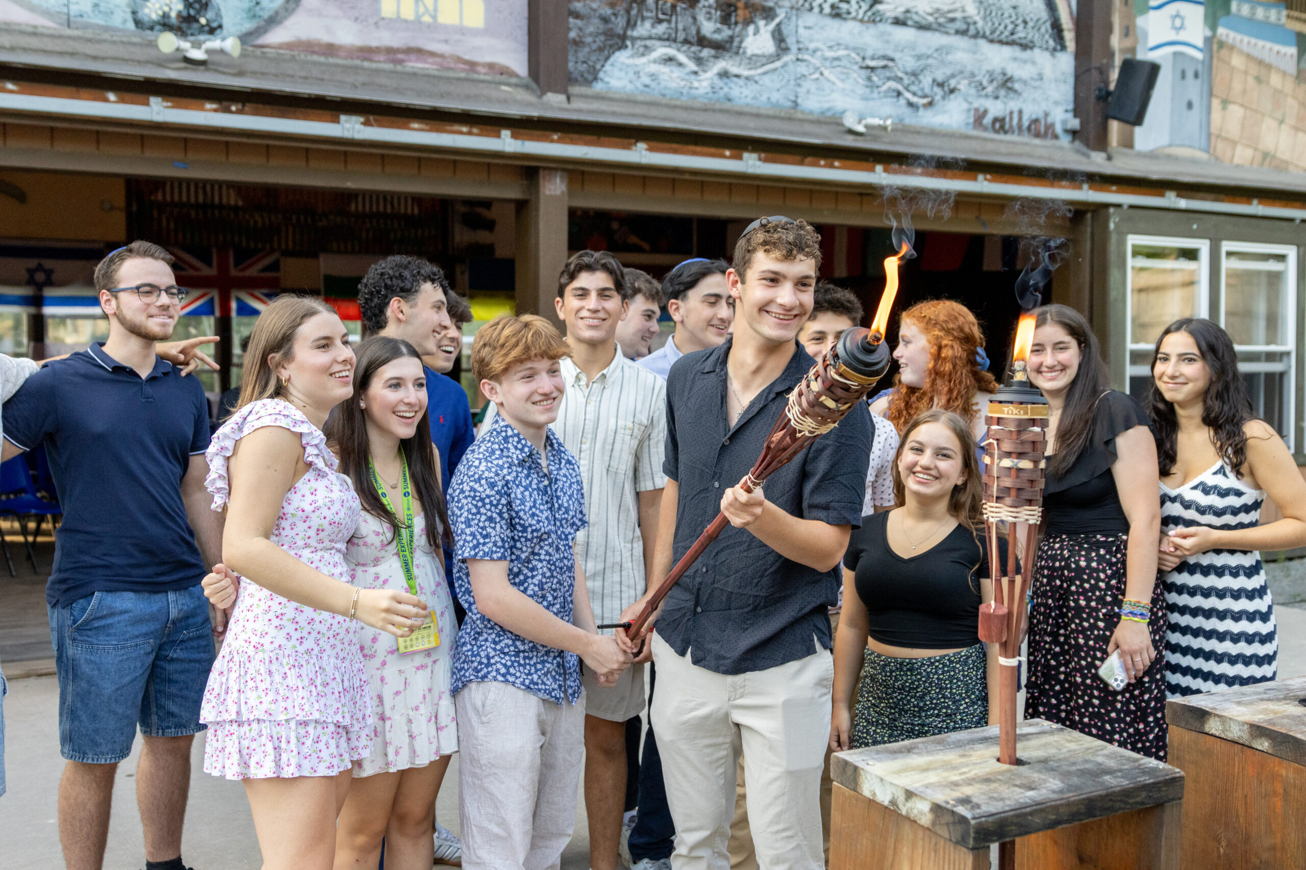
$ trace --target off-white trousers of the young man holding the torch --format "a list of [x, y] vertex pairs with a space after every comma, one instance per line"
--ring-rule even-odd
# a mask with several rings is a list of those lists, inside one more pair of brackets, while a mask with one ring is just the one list
[[741, 753], [761, 870], [820, 870], [820, 773], [829, 741], [829, 651], [738, 676], [678, 656], [656, 634], [653, 694], [675, 870], [726, 870]]

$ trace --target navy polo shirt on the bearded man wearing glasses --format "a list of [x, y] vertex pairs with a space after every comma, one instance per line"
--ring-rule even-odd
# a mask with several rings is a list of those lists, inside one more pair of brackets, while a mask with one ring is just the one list
[[209, 447], [199, 378], [162, 359], [141, 378], [93, 344], [27, 378], [3, 415], [16, 446], [44, 442], [64, 509], [51, 607], [199, 586], [206, 569], [182, 501], [191, 457]]

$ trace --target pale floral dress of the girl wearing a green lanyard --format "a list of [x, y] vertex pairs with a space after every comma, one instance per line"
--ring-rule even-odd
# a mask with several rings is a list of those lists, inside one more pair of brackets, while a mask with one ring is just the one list
[[[358, 644], [367, 664], [372, 698], [372, 751], [354, 762], [354, 776], [423, 767], [458, 751], [453, 695], [449, 694], [458, 623], [444, 582], [444, 556], [432, 552], [426, 540], [426, 514], [414, 518], [414, 526], [417, 593], [435, 614], [440, 646], [400, 655], [394, 635], [359, 625]], [[364, 513], [349, 540], [345, 558], [354, 569], [354, 586], [409, 591], [389, 523]]]

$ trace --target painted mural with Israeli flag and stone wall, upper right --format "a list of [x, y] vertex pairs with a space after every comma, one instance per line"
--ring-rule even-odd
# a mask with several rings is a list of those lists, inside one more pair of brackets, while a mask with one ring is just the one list
[[1136, 0], [1134, 14], [1138, 55], [1161, 65], [1135, 147], [1306, 171], [1306, 3]]

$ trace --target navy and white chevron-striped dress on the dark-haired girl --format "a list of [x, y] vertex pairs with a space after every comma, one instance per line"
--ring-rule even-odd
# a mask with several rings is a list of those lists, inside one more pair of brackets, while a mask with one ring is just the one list
[[[1224, 462], [1178, 489], [1161, 484], [1161, 533], [1188, 526], [1251, 528], [1266, 493]], [[1213, 549], [1161, 575], [1169, 698], [1269, 682], [1279, 670], [1275, 605], [1255, 550]]]

